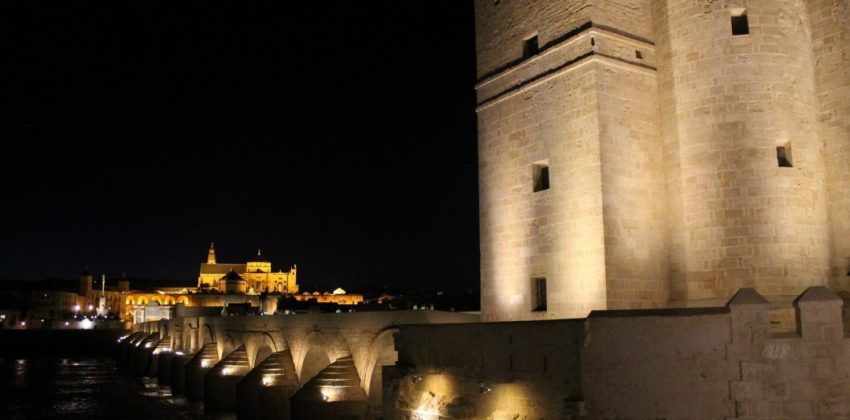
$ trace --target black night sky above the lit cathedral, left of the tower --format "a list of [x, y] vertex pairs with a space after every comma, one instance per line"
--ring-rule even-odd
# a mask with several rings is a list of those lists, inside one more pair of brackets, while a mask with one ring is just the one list
[[478, 287], [471, 2], [10, 3], [0, 278]]

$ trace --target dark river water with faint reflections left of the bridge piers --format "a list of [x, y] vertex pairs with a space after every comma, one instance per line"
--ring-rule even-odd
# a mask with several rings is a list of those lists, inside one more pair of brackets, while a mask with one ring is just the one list
[[[112, 358], [0, 358], [0, 419], [212, 419]], [[216, 419], [235, 416], [216, 416]]]

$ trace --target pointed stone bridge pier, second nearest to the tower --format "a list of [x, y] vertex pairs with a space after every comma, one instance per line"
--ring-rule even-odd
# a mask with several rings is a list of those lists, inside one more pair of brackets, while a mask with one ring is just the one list
[[236, 409], [240, 420], [289, 420], [289, 399], [301, 388], [292, 353], [272, 353], [251, 370], [236, 387]]

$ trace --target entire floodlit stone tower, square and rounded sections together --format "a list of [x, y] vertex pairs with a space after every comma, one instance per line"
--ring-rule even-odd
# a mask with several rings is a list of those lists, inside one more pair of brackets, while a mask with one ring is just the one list
[[484, 319], [847, 289], [848, 3], [476, 0]]

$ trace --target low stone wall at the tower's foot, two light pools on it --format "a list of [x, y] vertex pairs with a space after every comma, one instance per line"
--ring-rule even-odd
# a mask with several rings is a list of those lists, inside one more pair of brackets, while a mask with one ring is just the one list
[[796, 332], [742, 289], [722, 308], [402, 326], [384, 418], [850, 418], [843, 301], [813, 287]]

